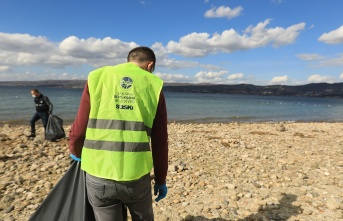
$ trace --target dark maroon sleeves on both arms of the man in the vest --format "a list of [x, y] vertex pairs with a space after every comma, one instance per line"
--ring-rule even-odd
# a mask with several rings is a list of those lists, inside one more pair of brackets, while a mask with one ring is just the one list
[[[90, 109], [90, 96], [88, 84], [86, 84], [77, 116], [69, 133], [69, 150], [70, 153], [77, 157], [81, 157]], [[166, 101], [162, 91], [151, 132], [151, 151], [154, 162], [155, 181], [158, 184], [164, 184], [168, 171], [168, 131]]]

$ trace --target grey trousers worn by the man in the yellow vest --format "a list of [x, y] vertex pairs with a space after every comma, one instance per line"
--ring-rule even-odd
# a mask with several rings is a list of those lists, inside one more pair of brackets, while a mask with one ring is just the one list
[[132, 221], [153, 221], [150, 174], [138, 180], [121, 182], [86, 173], [89, 203], [97, 221], [122, 221], [123, 205], [130, 211]]

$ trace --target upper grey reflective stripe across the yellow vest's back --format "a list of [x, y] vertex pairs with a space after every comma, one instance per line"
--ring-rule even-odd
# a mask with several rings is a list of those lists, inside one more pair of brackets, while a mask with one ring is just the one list
[[89, 119], [87, 127], [97, 129], [146, 131], [148, 136], [151, 136], [151, 128], [145, 126], [143, 122], [137, 121]]

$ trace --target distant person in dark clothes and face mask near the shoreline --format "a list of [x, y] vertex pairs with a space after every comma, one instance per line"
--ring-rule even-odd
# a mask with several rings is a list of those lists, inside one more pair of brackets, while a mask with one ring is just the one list
[[30, 120], [31, 134], [28, 137], [36, 137], [36, 122], [41, 119], [45, 131], [49, 114], [52, 113], [53, 105], [49, 101], [49, 98], [41, 94], [36, 88], [31, 90], [31, 95], [36, 105], [36, 112]]

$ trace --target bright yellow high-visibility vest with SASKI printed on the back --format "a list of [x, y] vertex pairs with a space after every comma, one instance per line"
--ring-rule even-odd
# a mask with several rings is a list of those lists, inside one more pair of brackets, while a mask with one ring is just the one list
[[81, 169], [105, 179], [136, 180], [152, 167], [150, 135], [163, 81], [132, 63], [88, 76], [90, 114]]

